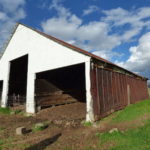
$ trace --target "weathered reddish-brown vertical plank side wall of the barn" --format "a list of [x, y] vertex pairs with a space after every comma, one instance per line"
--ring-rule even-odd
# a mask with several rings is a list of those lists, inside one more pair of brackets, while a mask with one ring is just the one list
[[102, 68], [93, 68], [91, 79], [95, 120], [149, 97], [145, 80]]

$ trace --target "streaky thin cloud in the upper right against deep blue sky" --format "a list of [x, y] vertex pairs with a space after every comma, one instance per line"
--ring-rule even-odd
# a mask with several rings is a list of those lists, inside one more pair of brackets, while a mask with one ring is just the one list
[[128, 25], [128, 29], [124, 28], [124, 32], [120, 36], [123, 42], [132, 40], [143, 28], [150, 28], [150, 7], [142, 7], [131, 11], [127, 11], [123, 8], [116, 8], [103, 11], [103, 13], [106, 16], [103, 17], [102, 20], [111, 27], [117, 28]]

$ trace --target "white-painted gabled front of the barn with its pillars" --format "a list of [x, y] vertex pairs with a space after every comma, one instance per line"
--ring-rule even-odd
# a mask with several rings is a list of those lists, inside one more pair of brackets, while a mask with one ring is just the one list
[[86, 119], [93, 120], [90, 94], [90, 57], [46, 38], [22, 24], [17, 25], [0, 60], [0, 80], [3, 81], [2, 107], [6, 107], [8, 103], [11, 61], [25, 55], [28, 57], [26, 112], [36, 112], [34, 100], [36, 73], [84, 63], [87, 103]]

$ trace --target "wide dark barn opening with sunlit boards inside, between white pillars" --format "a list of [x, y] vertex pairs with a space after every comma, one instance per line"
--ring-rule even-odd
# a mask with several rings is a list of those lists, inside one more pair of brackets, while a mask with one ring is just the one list
[[35, 99], [38, 106], [86, 102], [85, 64], [36, 74]]

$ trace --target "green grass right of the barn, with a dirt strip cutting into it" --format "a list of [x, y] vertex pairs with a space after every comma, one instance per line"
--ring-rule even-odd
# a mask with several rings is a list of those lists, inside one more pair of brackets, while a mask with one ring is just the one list
[[150, 100], [132, 104], [104, 120], [107, 119], [111, 124], [131, 123], [131, 126], [113, 133], [97, 133], [102, 150], [150, 150]]

